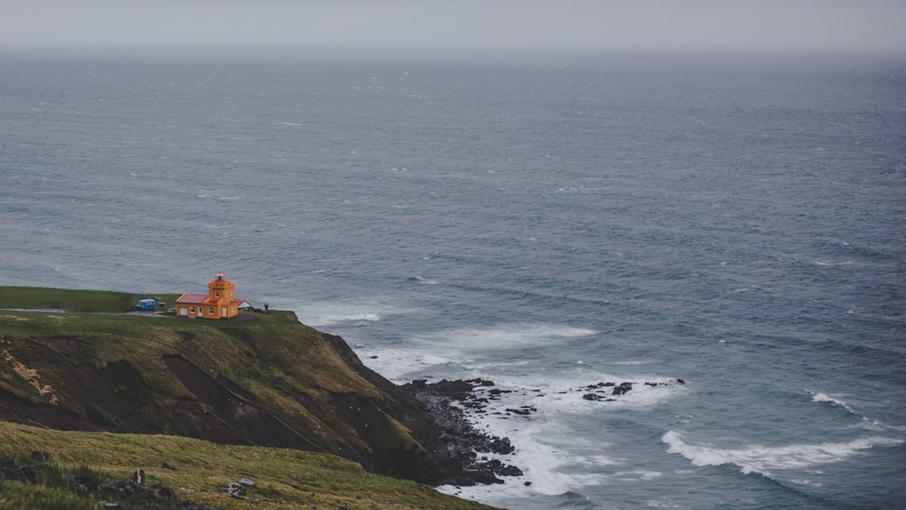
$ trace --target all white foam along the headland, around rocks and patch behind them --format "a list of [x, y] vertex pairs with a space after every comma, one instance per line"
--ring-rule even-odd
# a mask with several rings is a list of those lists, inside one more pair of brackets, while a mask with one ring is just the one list
[[[579, 433], [564, 425], [564, 416], [589, 416], [617, 409], [643, 409], [673, 398], [685, 387], [675, 380], [639, 370], [644, 361], [631, 363], [630, 373], [609, 374], [588, 364], [567, 365], [551, 370], [523, 369], [532, 361], [513, 361], [501, 356], [507, 349], [525, 349], [566, 342], [596, 334], [587, 328], [553, 323], [504, 323], [485, 328], [457, 328], [413, 335], [393, 345], [368, 344], [357, 348], [362, 361], [391, 380], [403, 382], [426, 375], [450, 379], [493, 380], [493, 387], [479, 387], [488, 398], [485, 412], [466, 409], [467, 418], [487, 434], [509, 438], [516, 447], [511, 455], [498, 458], [522, 469], [524, 475], [506, 477], [504, 486], [441, 487], [442, 492], [483, 502], [506, 501], [507, 497], [558, 496], [583, 486], [602, 486], [627, 480], [651, 480], [660, 474], [606, 467], [624, 460], [607, 454], [606, 438]], [[526, 365], [527, 364], [527, 365]], [[638, 370], [638, 371], [637, 371]], [[609, 387], [589, 388], [599, 382], [633, 382], [632, 390], [613, 397]], [[646, 385], [651, 382], [654, 385]], [[662, 385], [659, 383], [663, 383]], [[491, 390], [504, 390], [493, 395]], [[603, 391], [613, 401], [583, 399]], [[525, 416], [507, 409], [532, 409]], [[485, 454], [483, 454], [485, 455]], [[529, 486], [525, 483], [529, 482]]]

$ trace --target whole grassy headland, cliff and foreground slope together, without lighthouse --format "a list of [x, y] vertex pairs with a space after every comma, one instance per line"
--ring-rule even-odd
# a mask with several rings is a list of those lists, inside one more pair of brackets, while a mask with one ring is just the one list
[[142, 468], [221, 507], [248, 504], [218, 492], [240, 476], [265, 506], [481, 507], [365, 471], [437, 476], [424, 410], [342, 341], [289, 312], [126, 313], [141, 297], [177, 294], [0, 287], [0, 456], [43, 450], [119, 478]]

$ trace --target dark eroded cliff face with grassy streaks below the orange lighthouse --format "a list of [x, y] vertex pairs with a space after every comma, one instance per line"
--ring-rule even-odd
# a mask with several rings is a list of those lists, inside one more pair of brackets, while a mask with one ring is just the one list
[[322, 451], [432, 485], [462, 468], [431, 454], [441, 428], [423, 404], [362, 365], [340, 337], [294, 315], [149, 320], [135, 329], [129, 318], [115, 322], [119, 339], [7, 330], [0, 419]]

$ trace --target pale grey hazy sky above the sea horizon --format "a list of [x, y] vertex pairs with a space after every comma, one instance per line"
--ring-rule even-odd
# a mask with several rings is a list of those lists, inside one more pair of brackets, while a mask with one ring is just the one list
[[0, 0], [0, 47], [906, 52], [906, 0]]

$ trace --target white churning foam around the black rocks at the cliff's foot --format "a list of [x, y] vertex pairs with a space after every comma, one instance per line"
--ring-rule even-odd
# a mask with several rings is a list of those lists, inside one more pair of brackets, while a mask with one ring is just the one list
[[[589, 384], [602, 380], [639, 380], [639, 384], [614, 401], [583, 399]], [[605, 437], [578, 433], [564, 424], [564, 416], [596, 415], [628, 407], [641, 408], [669, 399], [681, 385], [646, 386], [641, 380], [666, 381], [663, 378], [623, 377], [600, 373], [578, 367], [558, 375], [504, 375], [495, 377], [496, 386], [480, 387], [478, 392], [510, 390], [490, 399], [486, 412], [467, 411], [468, 418], [480, 430], [493, 436], [510, 438], [516, 451], [512, 455], [496, 457], [506, 464], [523, 470], [524, 476], [506, 478], [505, 486], [469, 487], [450, 494], [494, 501], [495, 497], [562, 495], [581, 491], [583, 486], [602, 486], [612, 482], [651, 480], [660, 473], [649, 471], [618, 471], [607, 473], [605, 467], [622, 465], [625, 460], [607, 454], [610, 445]], [[532, 409], [521, 416], [507, 409]], [[493, 457], [493, 456], [492, 456]], [[525, 486], [530, 482], [530, 486]]]

